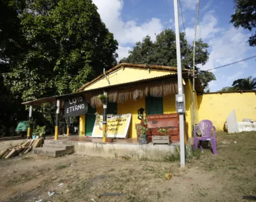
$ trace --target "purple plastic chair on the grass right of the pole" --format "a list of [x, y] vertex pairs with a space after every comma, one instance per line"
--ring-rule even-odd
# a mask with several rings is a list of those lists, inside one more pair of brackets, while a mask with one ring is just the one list
[[[197, 130], [201, 130], [201, 137], [197, 137]], [[212, 129], [214, 129], [214, 132], [212, 134]], [[195, 149], [198, 147], [198, 141], [200, 141], [200, 149], [202, 150], [203, 147], [201, 145], [201, 141], [211, 141], [212, 143], [212, 151], [214, 155], [217, 155], [217, 149], [216, 149], [216, 137], [215, 137], [215, 127], [212, 124], [212, 121], [210, 120], [203, 120], [200, 121], [199, 126], [196, 127], [194, 131], [194, 141], [195, 141]]]

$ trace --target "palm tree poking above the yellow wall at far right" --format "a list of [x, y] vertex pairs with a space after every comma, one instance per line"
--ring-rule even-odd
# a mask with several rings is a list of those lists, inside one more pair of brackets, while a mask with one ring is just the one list
[[232, 88], [234, 90], [255, 90], [256, 78], [247, 77], [245, 79], [237, 79], [233, 82]]

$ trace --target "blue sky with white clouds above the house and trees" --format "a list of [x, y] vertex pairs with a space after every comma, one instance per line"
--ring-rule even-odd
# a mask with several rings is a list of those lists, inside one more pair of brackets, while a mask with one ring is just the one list
[[[127, 57], [135, 42], [170, 28], [174, 30], [173, 0], [93, 0], [106, 27], [119, 42], [119, 59]], [[190, 44], [195, 34], [197, 0], [181, 0], [185, 33]], [[230, 16], [234, 13], [233, 0], [201, 0], [197, 38], [209, 44], [209, 60], [199, 65], [202, 70], [212, 69], [256, 55], [256, 47], [247, 40], [253, 32], [234, 28]], [[179, 28], [184, 32], [179, 8]], [[210, 91], [232, 86], [236, 79], [256, 77], [256, 59], [236, 63], [212, 71], [216, 81], [210, 82]]]

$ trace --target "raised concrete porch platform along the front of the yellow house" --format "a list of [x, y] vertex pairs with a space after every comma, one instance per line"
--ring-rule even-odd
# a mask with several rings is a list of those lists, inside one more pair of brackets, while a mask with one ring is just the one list
[[175, 154], [176, 147], [180, 145], [179, 141], [174, 141], [170, 145], [153, 145], [152, 142], [139, 145], [137, 139], [133, 138], [115, 139], [113, 143], [102, 143], [101, 138], [62, 135], [57, 141], [47, 137], [44, 142], [74, 145], [76, 154], [134, 160], [162, 160], [168, 155]]

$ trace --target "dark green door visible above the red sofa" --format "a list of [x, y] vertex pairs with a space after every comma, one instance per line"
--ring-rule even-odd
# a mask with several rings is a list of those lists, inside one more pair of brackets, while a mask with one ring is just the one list
[[146, 97], [146, 114], [163, 114], [162, 98]]

